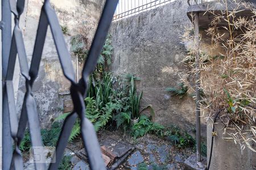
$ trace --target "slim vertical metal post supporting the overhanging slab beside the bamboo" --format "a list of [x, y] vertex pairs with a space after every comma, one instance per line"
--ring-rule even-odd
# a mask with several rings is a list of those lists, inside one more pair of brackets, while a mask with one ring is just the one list
[[196, 41], [196, 160], [201, 161], [201, 127], [200, 127], [200, 70], [199, 70], [199, 12], [195, 14], [195, 41]]

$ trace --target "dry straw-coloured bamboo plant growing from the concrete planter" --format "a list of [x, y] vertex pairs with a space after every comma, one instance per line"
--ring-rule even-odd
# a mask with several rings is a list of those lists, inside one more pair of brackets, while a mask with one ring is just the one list
[[[217, 56], [200, 51], [200, 70], [195, 69], [195, 46], [190, 46], [183, 61], [191, 67], [191, 74], [200, 71], [204, 116], [213, 119], [220, 112], [217, 122], [225, 125], [224, 131], [229, 129], [222, 138], [240, 145], [241, 151], [248, 147], [256, 152], [256, 9], [250, 3], [234, 2], [237, 7], [228, 11], [227, 0], [221, 1], [226, 10], [208, 10], [214, 17], [206, 30], [208, 51], [221, 50]], [[252, 16], [239, 16], [242, 8]], [[220, 26], [224, 22], [226, 26]], [[183, 41], [194, 42], [193, 30], [186, 30]]]

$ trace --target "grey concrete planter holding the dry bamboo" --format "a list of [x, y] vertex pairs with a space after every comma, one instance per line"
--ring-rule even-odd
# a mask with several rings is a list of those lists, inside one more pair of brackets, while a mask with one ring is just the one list
[[[210, 146], [212, 142], [212, 121], [207, 121], [207, 163], [210, 158]], [[215, 124], [214, 131], [217, 136], [213, 138], [212, 160], [209, 170], [213, 169], [254, 169], [256, 166], [256, 153], [245, 147], [243, 154], [239, 144], [235, 144], [234, 140], [226, 141], [222, 137], [230, 137], [224, 135], [224, 124]], [[232, 132], [226, 129], [226, 134]], [[234, 131], [233, 131], [234, 132]]]

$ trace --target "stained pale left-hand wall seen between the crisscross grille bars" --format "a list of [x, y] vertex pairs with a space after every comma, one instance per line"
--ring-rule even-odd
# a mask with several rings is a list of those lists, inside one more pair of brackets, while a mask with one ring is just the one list
[[[100, 0], [51, 0], [51, 5], [55, 9], [59, 18], [60, 25], [68, 28], [68, 35], [65, 40], [69, 48], [71, 36], [83, 34], [91, 41], [96, 31], [98, 19], [102, 9]], [[40, 10], [43, 1], [28, 1], [26, 13], [26, 25], [24, 27], [24, 42], [28, 61], [31, 61], [36, 30], [38, 27]], [[81, 29], [82, 28], [82, 29]], [[83, 30], [83, 32], [81, 32]], [[72, 56], [73, 67], [76, 69], [76, 58]], [[81, 66], [80, 66], [81, 67]], [[48, 27], [47, 38], [44, 44], [42, 61], [38, 78], [35, 81], [33, 91], [38, 112], [40, 115], [41, 126], [49, 127], [53, 118], [63, 111], [63, 102], [60, 102], [59, 93], [69, 90], [69, 82], [65, 79], [55, 45], [53, 43], [51, 31]], [[17, 107], [20, 111], [26, 90], [24, 79], [20, 76]]]

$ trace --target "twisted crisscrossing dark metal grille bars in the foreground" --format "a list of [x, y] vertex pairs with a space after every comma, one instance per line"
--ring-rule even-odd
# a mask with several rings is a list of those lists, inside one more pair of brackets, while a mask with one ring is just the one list
[[[3, 0], [5, 1], [5, 0]], [[41, 155], [41, 161], [44, 159], [42, 153], [42, 138], [40, 135], [39, 117], [36, 111], [36, 103], [32, 96], [32, 86], [38, 75], [39, 64], [42, 58], [44, 41], [46, 39], [46, 32], [48, 25], [51, 28], [53, 40], [56, 45], [57, 53], [60, 59], [61, 67], [65, 77], [71, 82], [71, 96], [74, 103], [74, 111], [69, 114], [65, 119], [63, 128], [60, 133], [59, 141], [56, 146], [56, 162], [52, 162], [49, 165], [49, 169], [57, 169], [60, 160], [63, 156], [63, 152], [68, 143], [68, 138], [73, 128], [73, 124], [76, 118], [81, 119], [81, 134], [84, 142], [85, 150], [88, 153], [89, 164], [91, 169], [106, 169], [103, 159], [101, 158], [100, 145], [97, 140], [96, 132], [93, 128], [92, 123], [84, 116], [85, 104], [84, 97], [86, 96], [87, 90], [87, 79], [89, 74], [95, 69], [97, 64], [100, 50], [104, 45], [110, 23], [112, 22], [115, 7], [117, 6], [118, 0], [107, 0], [104, 6], [104, 10], [101, 15], [100, 22], [96, 34], [94, 36], [92, 46], [89, 50], [88, 58], [86, 59], [82, 78], [79, 83], [75, 81], [75, 71], [71, 62], [71, 56], [69, 55], [67, 46], [65, 45], [63, 33], [61, 31], [59, 22], [55, 11], [51, 8], [49, 0], [44, 1], [42, 7], [38, 31], [35, 40], [34, 52], [32, 54], [32, 61], [30, 69], [27, 63], [26, 50], [24, 47], [22, 31], [19, 28], [19, 18], [24, 9], [25, 0], [10, 0], [10, 10], [13, 12], [15, 18], [15, 27], [13, 31], [13, 38], [11, 41], [11, 50], [9, 55], [9, 62], [6, 73], [6, 84], [3, 88], [3, 97], [6, 107], [3, 107], [3, 115], [7, 120], [6, 126], [3, 126], [3, 131], [7, 130], [6, 137], [10, 136], [14, 141], [14, 152], [12, 152], [11, 142], [9, 144], [6, 140], [3, 140], [3, 147], [8, 146], [3, 151], [3, 169], [23, 169], [22, 154], [19, 150], [20, 142], [23, 139], [24, 131], [28, 122], [28, 128], [30, 129], [32, 151], [34, 159], [36, 155]], [[11, 29], [10, 25], [9, 28]], [[5, 45], [7, 42], [5, 43]], [[22, 113], [18, 120], [17, 113], [15, 110], [14, 90], [13, 90], [13, 74], [16, 54], [18, 53], [20, 72], [26, 79], [26, 94], [24, 96]], [[7, 99], [5, 101], [5, 99]], [[9, 123], [8, 123], [9, 122]], [[19, 123], [18, 123], [19, 122]], [[46, 165], [43, 163], [35, 162], [35, 169], [46, 169]]]

